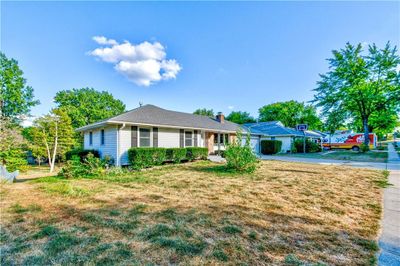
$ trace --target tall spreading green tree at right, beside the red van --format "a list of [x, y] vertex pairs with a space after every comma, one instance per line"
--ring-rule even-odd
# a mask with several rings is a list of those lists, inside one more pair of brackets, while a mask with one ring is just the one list
[[344, 49], [332, 53], [333, 57], [328, 59], [330, 70], [320, 75], [314, 101], [322, 107], [327, 121], [332, 117], [342, 121], [360, 119], [364, 143], [368, 145], [374, 117], [397, 113], [400, 108], [397, 48], [387, 43], [378, 49], [373, 44], [364, 53], [361, 44], [347, 43]]

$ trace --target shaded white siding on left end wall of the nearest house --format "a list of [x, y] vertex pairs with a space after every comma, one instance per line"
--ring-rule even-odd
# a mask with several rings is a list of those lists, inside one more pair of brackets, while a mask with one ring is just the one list
[[[104, 145], [101, 145], [101, 130], [104, 129]], [[89, 134], [92, 132], [93, 134], [93, 142], [92, 145], [89, 143]], [[112, 157], [114, 160], [117, 159], [117, 127], [116, 126], [107, 126], [104, 128], [99, 128], [96, 130], [86, 131], [84, 133], [83, 140], [84, 149], [88, 150], [98, 150], [101, 158], [108, 155]]]

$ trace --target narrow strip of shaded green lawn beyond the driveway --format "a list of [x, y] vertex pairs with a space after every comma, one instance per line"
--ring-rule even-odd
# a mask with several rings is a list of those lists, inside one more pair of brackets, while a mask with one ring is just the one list
[[346, 160], [346, 161], [358, 161], [358, 162], [375, 162], [375, 163], [386, 163], [388, 153], [386, 151], [369, 151], [369, 152], [356, 152], [348, 150], [333, 150], [324, 151], [318, 153], [285, 153], [276, 154], [277, 156], [296, 156], [305, 158], [315, 159], [329, 159], [329, 160]]

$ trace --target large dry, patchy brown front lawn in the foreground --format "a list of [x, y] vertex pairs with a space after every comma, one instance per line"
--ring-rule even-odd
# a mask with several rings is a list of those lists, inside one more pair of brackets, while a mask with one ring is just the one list
[[385, 174], [263, 161], [241, 175], [195, 162], [1, 184], [1, 265], [366, 265]]

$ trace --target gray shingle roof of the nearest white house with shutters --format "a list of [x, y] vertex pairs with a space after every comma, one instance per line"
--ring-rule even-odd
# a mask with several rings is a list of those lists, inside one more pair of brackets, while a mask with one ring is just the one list
[[[195, 129], [209, 129], [215, 131], [236, 132], [239, 125], [226, 121], [218, 122], [215, 118], [203, 115], [194, 115], [183, 112], [170, 111], [162, 109], [155, 105], [144, 105], [120, 115], [105, 119], [101, 124], [125, 122], [131, 124], [145, 124], [157, 126], [173, 126]], [[78, 131], [84, 131], [88, 127], [93, 127], [95, 124], [87, 125], [79, 128]]]

